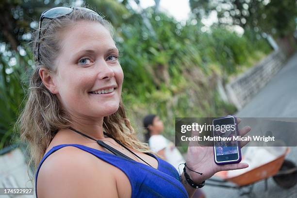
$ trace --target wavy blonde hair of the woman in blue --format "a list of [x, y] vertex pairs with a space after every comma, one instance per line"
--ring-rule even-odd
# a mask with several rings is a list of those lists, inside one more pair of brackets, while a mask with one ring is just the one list
[[[39, 39], [39, 63], [36, 46], [38, 30], [33, 33], [31, 43], [33, 43], [35, 67], [30, 77], [29, 90], [26, 90], [28, 100], [16, 120], [14, 130], [19, 133], [20, 140], [28, 144], [31, 153], [29, 166], [33, 164], [34, 172], [56, 132], [61, 128], [70, 126], [71, 123], [69, 114], [62, 109], [56, 95], [45, 87], [38, 71], [40, 67], [45, 67], [50, 72], [56, 72], [55, 60], [61, 49], [58, 35], [79, 20], [98, 22], [106, 27], [113, 36], [112, 25], [103, 16], [96, 16], [88, 11], [74, 10], [65, 17], [49, 20], [47, 24], [43, 22]], [[105, 116], [103, 123], [104, 131], [124, 145], [141, 152], [151, 152], [147, 144], [138, 140], [129, 119], [126, 117], [122, 100], [120, 100], [118, 110], [112, 115]]]

